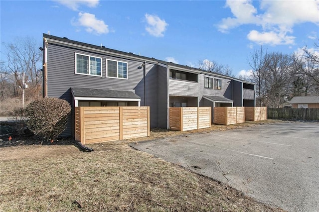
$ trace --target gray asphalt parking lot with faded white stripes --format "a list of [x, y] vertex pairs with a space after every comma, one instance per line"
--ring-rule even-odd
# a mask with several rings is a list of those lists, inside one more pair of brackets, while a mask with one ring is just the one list
[[132, 147], [292, 212], [319, 211], [319, 123], [280, 122]]

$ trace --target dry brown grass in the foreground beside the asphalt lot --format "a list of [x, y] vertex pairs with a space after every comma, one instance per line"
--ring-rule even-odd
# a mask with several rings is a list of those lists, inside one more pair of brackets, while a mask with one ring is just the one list
[[[181, 133], [191, 132], [152, 138]], [[134, 150], [132, 141], [93, 144], [90, 153], [73, 145], [0, 148], [0, 211], [281, 211]]]

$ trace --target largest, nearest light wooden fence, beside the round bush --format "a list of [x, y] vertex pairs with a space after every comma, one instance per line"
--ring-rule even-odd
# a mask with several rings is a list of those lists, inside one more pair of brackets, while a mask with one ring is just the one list
[[150, 136], [149, 106], [75, 107], [75, 140], [83, 144]]

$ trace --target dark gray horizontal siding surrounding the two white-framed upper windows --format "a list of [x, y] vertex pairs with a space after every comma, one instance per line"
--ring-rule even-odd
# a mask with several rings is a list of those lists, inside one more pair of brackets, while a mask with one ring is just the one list
[[[75, 74], [75, 53], [101, 57], [102, 77]], [[106, 78], [106, 59], [127, 62], [128, 79]], [[83, 49], [67, 48], [49, 43], [47, 52], [48, 97], [65, 99], [71, 104], [71, 106], [74, 106], [70, 88], [83, 87], [92, 89], [135, 91], [135, 93], [141, 97], [142, 103], [144, 100], [144, 82], [143, 68], [139, 68], [141, 65], [142, 62], [140, 61], [110, 57], [107, 55], [87, 52]], [[72, 110], [72, 114], [74, 115], [74, 110]], [[71, 136], [73, 134], [73, 115], [71, 120], [68, 121], [66, 130], [63, 134], [61, 134], [61, 136]], [[156, 117], [156, 115], [153, 116]], [[152, 120], [152, 123], [153, 122], [154, 121]]]

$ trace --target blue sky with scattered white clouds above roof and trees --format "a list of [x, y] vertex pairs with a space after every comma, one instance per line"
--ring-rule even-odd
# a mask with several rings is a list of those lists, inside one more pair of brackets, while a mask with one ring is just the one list
[[1, 0], [3, 42], [42, 33], [196, 67], [249, 72], [255, 48], [298, 52], [319, 37], [319, 0]]

